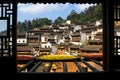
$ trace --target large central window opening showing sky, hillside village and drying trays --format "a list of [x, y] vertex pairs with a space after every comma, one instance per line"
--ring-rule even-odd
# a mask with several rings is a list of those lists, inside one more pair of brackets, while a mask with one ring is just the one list
[[18, 72], [104, 71], [102, 4], [19, 3], [17, 25]]

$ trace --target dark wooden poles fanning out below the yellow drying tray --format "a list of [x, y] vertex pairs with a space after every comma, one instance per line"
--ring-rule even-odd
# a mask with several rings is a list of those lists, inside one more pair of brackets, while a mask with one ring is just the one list
[[[47, 66], [47, 68], [41, 68], [40, 67], [43, 66], [43, 63], [45, 64], [48, 61], [41, 61], [38, 59], [34, 59], [29, 61], [28, 63], [26, 63], [26, 65], [20, 69], [18, 69], [18, 72], [22, 72], [25, 69], [27, 69], [29, 67], [29, 70], [27, 72], [51, 72], [52, 69], [52, 64], [54, 64], [55, 62], [61, 62], [62, 64], [62, 69], [63, 69], [63, 73], [68, 72], [68, 65], [67, 62], [72, 62], [73, 64], [75, 64], [76, 66], [76, 72], [88, 72], [88, 68], [92, 71], [92, 72], [100, 72], [100, 71], [104, 71], [103, 69], [100, 70], [98, 69], [96, 66], [93, 66], [92, 64], [90, 64], [89, 62], [91, 61], [92, 63], [98, 65], [99, 67], [101, 67], [101, 69], [103, 68], [103, 64], [101, 63], [101, 60], [94, 60], [94, 59], [78, 59], [78, 60], [71, 60], [71, 61], [49, 61], [49, 65]], [[80, 63], [86, 65], [86, 67], [83, 67]], [[31, 64], [34, 64], [31, 66]], [[31, 66], [31, 68], [30, 68]], [[45, 71], [43, 70], [45, 69]], [[40, 71], [38, 71], [40, 70]], [[56, 70], [54, 71], [56, 72]]]

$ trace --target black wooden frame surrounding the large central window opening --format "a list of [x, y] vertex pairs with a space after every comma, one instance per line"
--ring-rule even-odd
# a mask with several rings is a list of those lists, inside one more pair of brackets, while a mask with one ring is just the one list
[[[114, 71], [114, 60], [113, 56], [114, 56], [114, 44], [111, 44], [114, 42], [114, 22], [113, 22], [113, 2], [117, 1], [110, 1], [110, 0], [59, 0], [59, 1], [55, 1], [55, 0], [49, 0], [49, 1], [45, 1], [45, 0], [4, 0], [6, 2], [12, 2], [13, 3], [13, 21], [15, 24], [13, 24], [15, 26], [15, 28], [13, 29], [13, 57], [12, 57], [12, 64], [13, 64], [13, 68], [10, 70], [11, 73], [13, 72], [13, 70], [15, 70], [15, 74], [17, 74], [17, 80], [25, 80], [25, 79], [30, 79], [30, 80], [48, 80], [48, 79], [110, 79], [110, 75], [109, 72], [115, 72]], [[0, 2], [4, 2], [4, 1], [0, 1]], [[98, 72], [98, 73], [16, 73], [16, 64], [14, 64], [14, 62], [16, 62], [16, 34], [17, 34], [17, 4], [18, 3], [66, 3], [66, 2], [70, 2], [70, 3], [102, 3], [103, 5], [103, 53], [104, 53], [104, 60], [103, 60], [103, 64], [104, 64], [104, 72]], [[14, 76], [14, 74], [13, 74]], [[14, 76], [15, 78], [16, 76]], [[12, 77], [13, 78], [13, 77]]]

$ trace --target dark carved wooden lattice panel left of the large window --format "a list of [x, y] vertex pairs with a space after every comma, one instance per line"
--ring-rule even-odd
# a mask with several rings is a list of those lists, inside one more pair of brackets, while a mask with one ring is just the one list
[[0, 4], [0, 57], [12, 56], [12, 3]]

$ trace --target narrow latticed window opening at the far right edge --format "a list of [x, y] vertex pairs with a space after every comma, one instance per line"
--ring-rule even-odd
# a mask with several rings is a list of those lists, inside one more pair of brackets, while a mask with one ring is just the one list
[[[120, 4], [114, 4], [114, 61], [120, 61]], [[120, 69], [119, 64], [114, 65], [114, 70]]]

